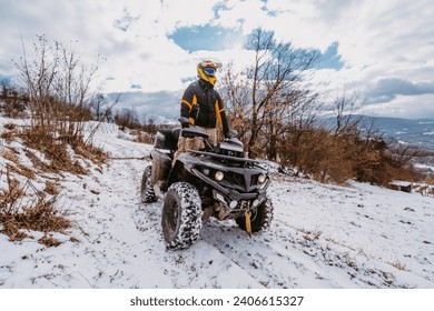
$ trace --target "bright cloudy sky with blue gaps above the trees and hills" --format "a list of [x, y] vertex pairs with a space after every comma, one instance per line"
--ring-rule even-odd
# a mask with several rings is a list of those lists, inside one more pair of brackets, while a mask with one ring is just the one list
[[0, 0], [0, 79], [46, 34], [83, 61], [103, 57], [98, 79], [120, 107], [170, 119], [196, 63], [253, 63], [243, 42], [262, 27], [320, 51], [313, 79], [329, 94], [356, 92], [373, 116], [434, 118], [433, 17], [432, 0]]

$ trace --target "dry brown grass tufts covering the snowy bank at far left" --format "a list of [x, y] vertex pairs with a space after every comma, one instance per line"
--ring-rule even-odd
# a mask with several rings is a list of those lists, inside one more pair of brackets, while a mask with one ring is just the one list
[[[24, 146], [23, 154], [32, 165], [22, 164], [22, 154], [13, 148], [6, 147], [0, 150], [0, 157], [6, 160], [0, 174], [7, 183], [6, 189], [0, 189], [0, 232], [7, 234], [11, 241], [20, 241], [29, 237], [29, 230], [40, 231], [45, 235], [38, 242], [56, 247], [60, 242], [50, 237], [49, 232], [62, 232], [71, 223], [66, 214], [55, 207], [59, 193], [58, 184], [39, 173], [86, 174], [88, 170], [82, 164], [86, 161], [77, 159], [89, 159], [101, 165], [107, 161], [107, 156], [101, 149], [85, 144], [82, 139], [58, 139], [55, 128], [19, 129], [12, 124], [4, 128], [1, 138], [7, 142], [21, 141]], [[71, 154], [72, 150], [75, 154]], [[37, 152], [40, 154], [37, 156]], [[40, 156], [45, 159], [41, 160]], [[36, 179], [45, 180], [43, 191], [37, 190], [32, 184], [31, 180]]]

